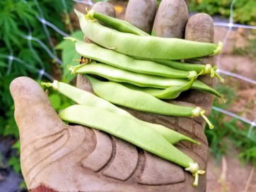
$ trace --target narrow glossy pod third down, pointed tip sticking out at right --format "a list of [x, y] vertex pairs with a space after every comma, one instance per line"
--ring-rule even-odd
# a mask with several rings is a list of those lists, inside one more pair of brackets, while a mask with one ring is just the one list
[[[121, 68], [108, 66], [106, 64], [83, 64], [79, 66], [70, 66], [71, 73], [87, 73], [102, 76], [112, 81], [131, 83], [140, 87], [151, 87], [166, 89], [172, 86], [184, 86], [187, 85], [189, 80], [180, 78], [166, 78], [161, 76], [151, 76], [148, 74], [135, 73], [132, 71], [124, 71]], [[221, 97], [219, 92], [202, 83], [199, 80], [195, 80], [192, 89], [202, 90], [209, 92], [217, 97]]]

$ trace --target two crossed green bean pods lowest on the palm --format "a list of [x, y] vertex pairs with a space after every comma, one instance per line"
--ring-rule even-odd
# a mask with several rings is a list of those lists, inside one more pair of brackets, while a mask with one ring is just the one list
[[[197, 186], [199, 174], [204, 174], [204, 171], [199, 170], [197, 162], [174, 146], [180, 140], [200, 145], [196, 140], [165, 126], [136, 119], [132, 114], [114, 104], [66, 83], [54, 80], [53, 83], [41, 84], [48, 88], [54, 88], [78, 103], [59, 112], [62, 120], [105, 131], [158, 155], [158, 157], [175, 162], [193, 174], [194, 186]], [[98, 121], [99, 118], [100, 121]]]

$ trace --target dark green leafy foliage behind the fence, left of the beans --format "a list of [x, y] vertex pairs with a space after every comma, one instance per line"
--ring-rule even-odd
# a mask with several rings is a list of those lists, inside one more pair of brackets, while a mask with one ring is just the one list
[[[69, 33], [66, 30], [69, 25], [66, 18], [69, 18], [68, 12], [73, 9], [73, 1], [65, 2], [68, 11], [59, 0], [0, 1], [0, 136], [13, 136], [18, 140], [18, 128], [13, 116], [14, 104], [9, 91], [11, 81], [18, 76], [29, 76], [36, 80], [39, 76], [37, 70], [45, 68], [45, 71], [50, 73], [53, 64], [52, 58], [38, 42], [30, 42], [23, 37], [31, 35], [50, 47], [47, 34], [38, 19], [41, 13], [45, 20]], [[62, 35], [52, 28], [47, 27], [47, 30], [54, 43], [63, 40]], [[22, 61], [8, 60], [9, 55]], [[15, 144], [13, 148], [16, 148], [17, 154], [8, 160], [8, 165], [16, 172], [20, 172], [19, 145]]]

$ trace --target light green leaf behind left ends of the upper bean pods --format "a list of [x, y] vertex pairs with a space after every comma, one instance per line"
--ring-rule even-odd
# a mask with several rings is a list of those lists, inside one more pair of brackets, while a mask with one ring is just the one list
[[[83, 32], [81, 30], [78, 30], [71, 34], [71, 37], [74, 37], [78, 40], [83, 40]], [[63, 40], [57, 46], [56, 49], [62, 50], [62, 82], [69, 83], [72, 79], [75, 78], [74, 75], [71, 75], [70, 71], [68, 70], [69, 65], [76, 66], [79, 64], [78, 61], [75, 61], [74, 59], [80, 59], [81, 56], [76, 53], [75, 45], [73, 42], [70, 42], [69, 40]]]

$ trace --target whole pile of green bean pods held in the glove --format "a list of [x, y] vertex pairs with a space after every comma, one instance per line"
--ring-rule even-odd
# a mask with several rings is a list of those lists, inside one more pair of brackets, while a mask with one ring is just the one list
[[115, 104], [167, 116], [202, 116], [209, 128], [214, 128], [204, 109], [166, 100], [173, 100], [189, 89], [209, 92], [223, 100], [219, 92], [197, 80], [198, 76], [210, 74], [223, 82], [216, 66], [177, 61], [219, 54], [222, 43], [152, 37], [123, 20], [95, 11], [86, 15], [75, 12], [84, 35], [95, 44], [66, 37], [74, 42], [76, 52], [86, 58], [85, 64], [69, 66], [69, 70], [84, 74], [95, 95], [57, 80], [42, 83], [77, 103], [63, 109], [59, 116], [64, 121], [110, 133], [185, 167], [195, 177], [197, 186], [199, 174], [204, 171], [174, 145], [180, 140], [197, 145], [199, 142], [165, 126], [136, 119]]

